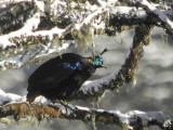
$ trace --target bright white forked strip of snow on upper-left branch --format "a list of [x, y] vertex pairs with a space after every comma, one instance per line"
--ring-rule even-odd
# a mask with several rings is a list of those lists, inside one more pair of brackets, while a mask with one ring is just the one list
[[8, 47], [16, 47], [15, 43], [11, 42], [11, 38], [21, 37], [23, 38], [28, 36], [49, 36], [50, 40], [53, 39], [53, 35], [57, 35], [58, 37], [66, 30], [59, 29], [57, 27], [52, 28], [51, 30], [40, 30], [34, 32], [32, 29], [37, 29], [40, 23], [40, 13], [37, 12], [31, 18], [27, 20], [24, 27], [17, 31], [12, 31], [8, 35], [0, 36], [0, 48], [5, 49]]

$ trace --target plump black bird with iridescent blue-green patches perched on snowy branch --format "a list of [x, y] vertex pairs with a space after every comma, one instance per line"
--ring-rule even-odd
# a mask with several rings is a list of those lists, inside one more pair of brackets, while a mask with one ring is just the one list
[[65, 53], [43, 63], [28, 79], [27, 101], [34, 102], [39, 95], [52, 101], [70, 100], [96, 68], [104, 67], [102, 54], [106, 51], [95, 58]]

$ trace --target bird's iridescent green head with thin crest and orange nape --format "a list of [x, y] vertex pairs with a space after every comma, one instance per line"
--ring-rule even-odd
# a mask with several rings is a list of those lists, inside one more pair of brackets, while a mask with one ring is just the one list
[[104, 66], [104, 60], [103, 60], [102, 55], [107, 51], [108, 50], [105, 49], [101, 54], [96, 55], [95, 58], [88, 57], [88, 62], [91, 63], [92, 65], [94, 65], [96, 68], [99, 68], [99, 67], [106, 68], [106, 66]]

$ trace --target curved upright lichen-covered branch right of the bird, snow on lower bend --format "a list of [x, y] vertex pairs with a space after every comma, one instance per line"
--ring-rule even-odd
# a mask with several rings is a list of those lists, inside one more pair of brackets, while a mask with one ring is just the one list
[[138, 26], [135, 29], [133, 46], [130, 50], [130, 54], [118, 73], [112, 72], [104, 78], [84, 83], [79, 92], [71, 99], [97, 99], [104, 94], [105, 90], [119, 93], [119, 90], [124, 87], [124, 84], [131, 83], [132, 86], [135, 86], [135, 75], [138, 68], [138, 62], [143, 55], [143, 47], [149, 44], [151, 30], [152, 26]]

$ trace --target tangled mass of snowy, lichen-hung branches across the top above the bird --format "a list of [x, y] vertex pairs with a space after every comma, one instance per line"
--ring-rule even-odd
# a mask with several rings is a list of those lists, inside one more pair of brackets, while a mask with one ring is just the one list
[[2, 1], [0, 69], [21, 68], [38, 58], [55, 56], [71, 44], [85, 51], [99, 34], [114, 36], [141, 24], [163, 26], [172, 34], [171, 11], [160, 11], [146, 1], [134, 1], [134, 6], [117, 2]]

